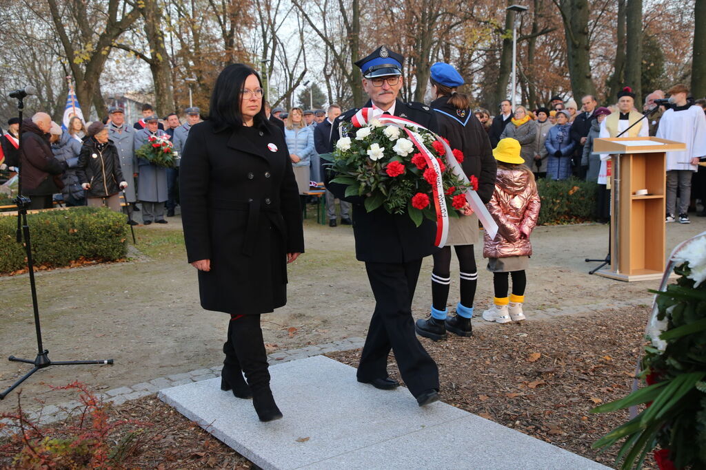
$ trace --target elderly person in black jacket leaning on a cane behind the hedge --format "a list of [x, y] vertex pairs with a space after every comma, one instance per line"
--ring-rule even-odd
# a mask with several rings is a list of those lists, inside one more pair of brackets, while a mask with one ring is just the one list
[[118, 149], [108, 140], [108, 128], [99, 121], [88, 126], [88, 138], [83, 142], [76, 170], [88, 205], [108, 206], [121, 212], [121, 190], [128, 187], [120, 169]]

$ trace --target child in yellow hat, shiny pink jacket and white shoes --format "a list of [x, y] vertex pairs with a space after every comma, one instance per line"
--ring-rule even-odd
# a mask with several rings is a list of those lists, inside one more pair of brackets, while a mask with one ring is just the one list
[[[488, 271], [493, 273], [495, 298], [493, 307], [483, 312], [483, 319], [508, 323], [525, 319], [525, 270], [532, 254], [530, 234], [537, 225], [541, 203], [534, 175], [520, 156], [520, 142], [501, 140], [493, 156], [498, 161], [498, 177], [488, 210], [498, 224], [498, 233], [492, 240], [485, 233], [483, 257], [488, 258]], [[509, 276], [513, 290], [508, 299]]]

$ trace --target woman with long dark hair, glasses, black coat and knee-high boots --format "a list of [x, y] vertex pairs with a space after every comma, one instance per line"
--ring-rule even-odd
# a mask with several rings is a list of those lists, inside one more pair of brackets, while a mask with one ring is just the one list
[[255, 70], [237, 63], [220, 73], [210, 119], [191, 128], [179, 174], [201, 307], [231, 315], [221, 388], [252, 396], [261, 421], [280, 419], [260, 314], [287, 302], [287, 263], [304, 252], [304, 233], [285, 136], [265, 117]]

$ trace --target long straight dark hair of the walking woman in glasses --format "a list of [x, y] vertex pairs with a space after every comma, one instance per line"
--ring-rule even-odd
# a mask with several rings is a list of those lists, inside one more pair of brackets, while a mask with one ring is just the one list
[[[260, 75], [251, 67], [243, 63], [234, 63], [224, 68], [213, 87], [211, 94], [211, 104], [209, 111], [209, 119], [213, 121], [216, 127], [239, 128], [243, 125], [243, 116], [240, 112], [241, 90], [245, 86], [245, 80], [250, 76], [255, 75], [258, 78], [258, 84], [263, 86]], [[261, 101], [260, 112], [256, 114], [254, 123], [261, 125], [266, 123], [265, 118], [265, 96]]]

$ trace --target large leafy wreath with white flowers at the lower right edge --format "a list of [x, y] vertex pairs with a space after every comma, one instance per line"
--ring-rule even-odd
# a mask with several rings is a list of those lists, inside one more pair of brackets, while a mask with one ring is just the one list
[[[664, 288], [671, 268], [679, 276]], [[597, 440], [610, 447], [625, 439], [618, 453], [621, 469], [638, 468], [659, 445], [661, 469], [706, 468], [706, 233], [679, 245], [670, 256], [656, 294], [639, 377], [647, 383], [595, 413], [645, 404], [645, 410]]]

